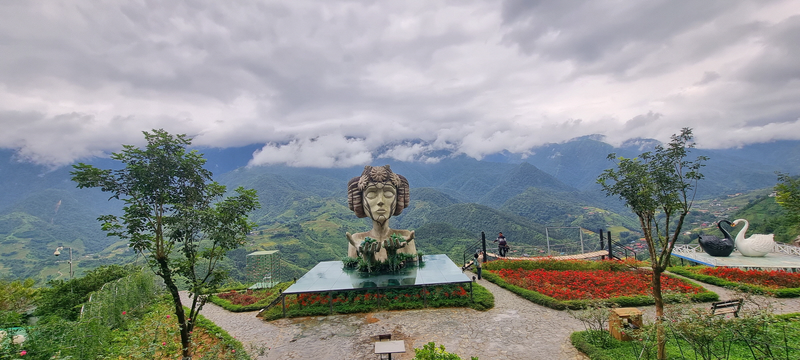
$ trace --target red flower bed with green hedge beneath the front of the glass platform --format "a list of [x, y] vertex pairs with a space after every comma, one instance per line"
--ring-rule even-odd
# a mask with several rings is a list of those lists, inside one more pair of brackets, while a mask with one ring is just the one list
[[[483, 286], [473, 284], [474, 302], [470, 302], [469, 286], [450, 284], [427, 288], [427, 307], [472, 307], [489, 310], [494, 307], [494, 295]], [[378, 297], [380, 307], [378, 308]], [[330, 314], [328, 293], [286, 295], [286, 317], [316, 316]], [[422, 309], [422, 287], [370, 291], [341, 291], [333, 294], [334, 314], [369, 313], [376, 310]], [[267, 320], [283, 317], [280, 304], [271, 307], [259, 316]]]

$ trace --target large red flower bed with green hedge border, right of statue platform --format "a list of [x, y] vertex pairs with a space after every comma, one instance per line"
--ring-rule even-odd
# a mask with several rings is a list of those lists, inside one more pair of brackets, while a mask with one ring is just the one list
[[[587, 261], [566, 261], [566, 264], [511, 261], [493, 264], [492, 268], [496, 270], [486, 271], [484, 278], [531, 302], [557, 310], [582, 309], [598, 303], [618, 306], [654, 304], [650, 290], [652, 273], [649, 270], [626, 266], [618, 268], [625, 270], [610, 270], [621, 263], [614, 265], [611, 262], [614, 261], [596, 264]], [[508, 268], [497, 269], [502, 265]], [[552, 268], [579, 270], [548, 270]], [[698, 284], [668, 274], [662, 274], [662, 290], [666, 302], [678, 302], [686, 298], [694, 302], [710, 302], [719, 298]]]

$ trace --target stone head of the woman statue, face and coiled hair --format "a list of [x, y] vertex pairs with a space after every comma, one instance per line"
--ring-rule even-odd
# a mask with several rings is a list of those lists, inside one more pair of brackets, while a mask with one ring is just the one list
[[364, 166], [361, 176], [347, 182], [347, 205], [358, 218], [386, 222], [408, 206], [408, 180], [388, 165]]

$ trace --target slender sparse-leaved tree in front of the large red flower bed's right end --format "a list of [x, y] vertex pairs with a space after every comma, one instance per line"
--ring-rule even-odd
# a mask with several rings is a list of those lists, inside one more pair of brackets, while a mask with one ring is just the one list
[[674, 134], [669, 144], [655, 146], [638, 158], [622, 158], [609, 154], [616, 169], [608, 169], [598, 177], [598, 183], [606, 196], [615, 195], [625, 201], [639, 218], [644, 238], [650, 251], [653, 268], [653, 297], [655, 299], [658, 334], [658, 358], [666, 358], [665, 335], [661, 326], [664, 316], [664, 299], [661, 290], [661, 274], [670, 265], [670, 256], [678, 235], [681, 234], [684, 218], [694, 202], [697, 183], [703, 178], [699, 170], [704, 156], [694, 161], [686, 160], [692, 130], [683, 128]]

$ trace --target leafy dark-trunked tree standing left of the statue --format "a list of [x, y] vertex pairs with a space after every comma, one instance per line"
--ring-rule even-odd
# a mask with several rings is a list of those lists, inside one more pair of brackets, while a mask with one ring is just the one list
[[[194, 318], [225, 277], [218, 261], [228, 250], [242, 246], [254, 224], [247, 214], [259, 207], [255, 190], [242, 187], [223, 198], [226, 187], [211, 180], [202, 166], [206, 159], [187, 151], [191, 138], [164, 130], [143, 132], [147, 146], [125, 145], [111, 158], [121, 170], [101, 170], [79, 163], [73, 181], [78, 187], [99, 187], [111, 198], [122, 199], [123, 215], [98, 218], [109, 236], [130, 242], [147, 264], [164, 279], [172, 295], [181, 330], [183, 360], [192, 356]], [[190, 290], [189, 314], [183, 309], [176, 277], [186, 278]]]

